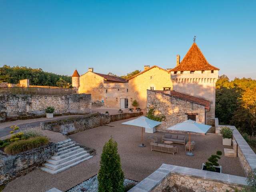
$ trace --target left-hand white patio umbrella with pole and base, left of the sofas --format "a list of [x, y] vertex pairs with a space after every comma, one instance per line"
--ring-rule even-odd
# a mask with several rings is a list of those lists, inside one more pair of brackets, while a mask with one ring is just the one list
[[143, 144], [143, 128], [154, 128], [155, 126], [160, 125], [161, 123], [162, 122], [151, 120], [145, 116], [140, 116], [136, 119], [123, 122], [122, 124], [141, 127], [141, 144], [139, 145], [139, 147], [145, 147], [145, 145]]

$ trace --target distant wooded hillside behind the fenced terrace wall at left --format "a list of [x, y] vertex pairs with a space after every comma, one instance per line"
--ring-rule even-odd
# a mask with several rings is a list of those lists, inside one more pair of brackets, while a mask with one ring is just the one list
[[28, 68], [23, 66], [0, 67], [0, 82], [17, 84], [19, 80], [29, 79], [30, 85], [58, 86], [69, 88], [72, 83], [70, 76], [45, 72], [41, 68]]

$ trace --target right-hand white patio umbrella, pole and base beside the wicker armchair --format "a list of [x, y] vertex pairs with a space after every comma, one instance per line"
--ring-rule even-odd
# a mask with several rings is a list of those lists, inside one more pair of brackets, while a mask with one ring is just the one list
[[[186, 120], [182, 123], [178, 123], [174, 126], [171, 126], [167, 129], [168, 130], [189, 132], [189, 142], [190, 142], [191, 141], [191, 136], [190, 136], [191, 132], [204, 133], [205, 134], [211, 127], [212, 126], [210, 126], [210, 125], [200, 124], [200, 123], [197, 123], [196, 121], [193, 121], [193, 120], [189, 119], [189, 120]], [[187, 154], [187, 155], [193, 156], [194, 154], [192, 152], [189, 152], [189, 154]]]

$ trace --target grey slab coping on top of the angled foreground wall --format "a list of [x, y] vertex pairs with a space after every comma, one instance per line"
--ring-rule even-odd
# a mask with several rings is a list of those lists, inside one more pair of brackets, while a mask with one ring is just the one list
[[150, 174], [150, 176], [146, 177], [128, 192], [151, 192], [172, 173], [180, 174], [183, 176], [193, 176], [205, 180], [212, 180], [215, 182], [221, 182], [223, 184], [233, 184], [237, 186], [247, 185], [245, 177], [175, 166], [170, 164], [162, 164], [160, 168], [158, 168], [155, 172]]

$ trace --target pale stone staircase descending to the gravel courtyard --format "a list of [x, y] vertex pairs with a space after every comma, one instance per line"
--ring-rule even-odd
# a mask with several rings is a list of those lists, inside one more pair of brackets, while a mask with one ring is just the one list
[[40, 169], [56, 174], [90, 158], [92, 156], [84, 148], [68, 139], [58, 143], [58, 151]]

